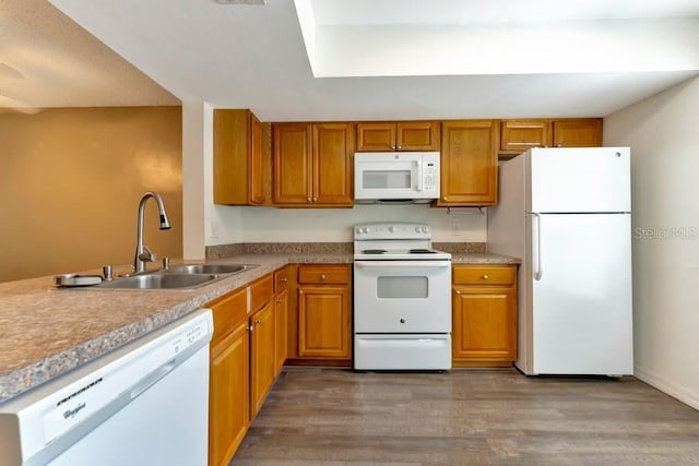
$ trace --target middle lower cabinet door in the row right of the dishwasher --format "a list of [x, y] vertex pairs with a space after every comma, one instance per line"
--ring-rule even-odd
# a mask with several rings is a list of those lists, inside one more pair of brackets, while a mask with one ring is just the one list
[[276, 375], [273, 301], [250, 318], [250, 419], [253, 419]]

